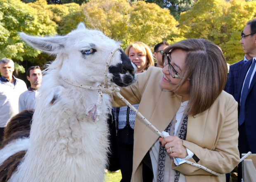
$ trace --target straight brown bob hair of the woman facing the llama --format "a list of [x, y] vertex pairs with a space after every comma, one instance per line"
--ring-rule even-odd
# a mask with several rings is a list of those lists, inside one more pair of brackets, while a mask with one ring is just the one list
[[[227, 62], [218, 46], [205, 39], [185, 39], [168, 46], [164, 53], [181, 49], [186, 52], [184, 79], [189, 82], [188, 115], [197, 115], [210, 108], [225, 87], [228, 77]], [[164, 58], [163, 53], [163, 58]]]

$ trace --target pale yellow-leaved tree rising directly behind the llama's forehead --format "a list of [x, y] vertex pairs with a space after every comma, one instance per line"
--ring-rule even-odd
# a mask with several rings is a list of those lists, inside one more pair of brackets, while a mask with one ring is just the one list
[[81, 7], [88, 27], [126, 44], [130, 13], [126, 0], [90, 0]]

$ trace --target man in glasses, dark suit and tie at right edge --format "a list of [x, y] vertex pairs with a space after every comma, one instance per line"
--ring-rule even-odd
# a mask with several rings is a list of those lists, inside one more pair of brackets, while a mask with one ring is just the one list
[[[241, 35], [241, 44], [244, 52], [252, 57], [244, 64], [238, 81], [235, 99], [238, 104], [239, 138], [238, 148], [240, 155], [251, 151], [256, 153], [256, 19], [251, 20], [244, 27]], [[239, 164], [237, 180], [242, 178], [242, 167]]]

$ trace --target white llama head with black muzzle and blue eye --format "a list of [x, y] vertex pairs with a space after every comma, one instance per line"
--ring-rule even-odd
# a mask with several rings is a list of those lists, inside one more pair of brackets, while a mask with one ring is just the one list
[[85, 28], [83, 23], [65, 36], [34, 37], [23, 32], [19, 35], [32, 47], [57, 55], [55, 61], [48, 65], [47, 71], [57, 69], [59, 78], [64, 80], [97, 86], [104, 83], [107, 65], [108, 83], [123, 87], [136, 81], [137, 67], [119, 49], [119, 43], [98, 30]]

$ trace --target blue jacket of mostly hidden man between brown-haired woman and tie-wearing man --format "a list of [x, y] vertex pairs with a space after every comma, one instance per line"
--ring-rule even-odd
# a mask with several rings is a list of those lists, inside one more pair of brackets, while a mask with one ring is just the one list
[[244, 60], [242, 59], [230, 65], [230, 68], [229, 68], [228, 80], [224, 90], [234, 97], [237, 97], [238, 80], [240, 78], [243, 65], [244, 65]]

